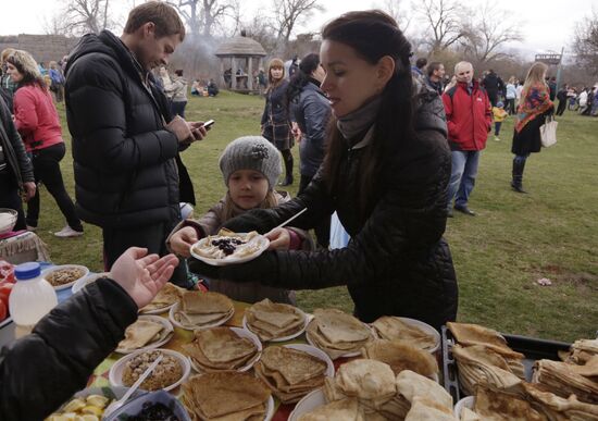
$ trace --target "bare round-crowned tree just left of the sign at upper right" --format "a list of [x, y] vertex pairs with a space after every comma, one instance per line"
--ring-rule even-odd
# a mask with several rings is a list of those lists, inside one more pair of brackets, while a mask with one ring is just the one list
[[503, 57], [506, 53], [500, 49], [506, 44], [523, 40], [520, 26], [521, 23], [512, 20], [507, 10], [486, 1], [472, 16], [472, 23], [461, 38], [465, 54], [481, 64]]

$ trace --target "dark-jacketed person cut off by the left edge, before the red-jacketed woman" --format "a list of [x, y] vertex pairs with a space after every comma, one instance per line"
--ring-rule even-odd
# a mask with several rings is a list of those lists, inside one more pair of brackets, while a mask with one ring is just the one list
[[35, 178], [32, 161], [14, 126], [11, 112], [0, 97], [0, 208], [14, 209], [18, 213], [14, 230], [25, 230], [25, 214], [18, 190], [26, 200], [35, 196]]

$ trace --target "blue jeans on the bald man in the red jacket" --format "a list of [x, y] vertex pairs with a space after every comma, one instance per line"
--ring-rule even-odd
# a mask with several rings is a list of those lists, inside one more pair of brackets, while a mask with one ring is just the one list
[[[452, 169], [448, 188], [448, 203], [450, 209], [454, 198], [456, 207], [468, 206], [468, 199], [475, 185], [477, 164], [479, 163], [478, 150], [453, 150], [451, 152]], [[457, 197], [454, 197], [457, 195]]]

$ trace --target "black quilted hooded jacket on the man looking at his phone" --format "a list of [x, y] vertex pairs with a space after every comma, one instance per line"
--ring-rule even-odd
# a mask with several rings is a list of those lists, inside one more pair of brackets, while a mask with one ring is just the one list
[[107, 226], [178, 219], [178, 141], [164, 95], [108, 30], [83, 37], [66, 67], [78, 215]]

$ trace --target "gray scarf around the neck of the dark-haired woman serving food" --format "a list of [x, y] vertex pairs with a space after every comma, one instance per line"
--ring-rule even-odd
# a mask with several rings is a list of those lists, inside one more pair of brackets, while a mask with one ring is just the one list
[[[364, 147], [370, 143], [374, 133], [374, 120], [376, 119], [381, 102], [382, 97], [376, 96], [360, 109], [357, 109], [356, 111], [344, 115], [336, 121], [338, 131], [342, 137], [349, 141], [349, 145], [353, 146], [353, 149]], [[357, 138], [365, 131], [367, 131], [367, 133], [365, 133], [361, 139]], [[359, 144], [357, 144], [358, 141]]]

